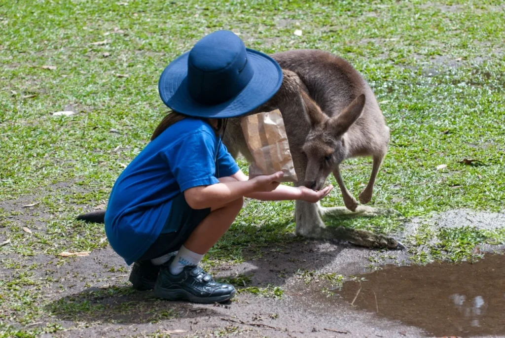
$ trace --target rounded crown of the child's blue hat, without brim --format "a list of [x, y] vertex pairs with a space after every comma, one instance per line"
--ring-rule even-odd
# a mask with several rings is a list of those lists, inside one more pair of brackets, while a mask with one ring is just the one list
[[193, 100], [214, 105], [236, 96], [249, 83], [254, 68], [242, 40], [217, 31], [199, 40], [188, 55], [188, 89]]

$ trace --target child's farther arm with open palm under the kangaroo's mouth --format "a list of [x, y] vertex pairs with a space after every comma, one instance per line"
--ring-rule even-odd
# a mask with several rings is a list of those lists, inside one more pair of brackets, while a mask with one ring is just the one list
[[[248, 177], [239, 170], [236, 174], [231, 176], [237, 181], [248, 182]], [[252, 179], [254, 180], [254, 179]], [[320, 191], [314, 191], [306, 187], [290, 187], [279, 185], [272, 191], [259, 192], [254, 191], [244, 194], [245, 197], [259, 199], [263, 201], [282, 201], [282, 200], [304, 200], [311, 203], [316, 203], [330, 193], [333, 186], [330, 185]]]

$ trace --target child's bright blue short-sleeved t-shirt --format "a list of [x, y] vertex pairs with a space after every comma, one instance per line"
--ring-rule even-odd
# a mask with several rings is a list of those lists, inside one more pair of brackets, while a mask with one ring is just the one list
[[[148, 143], [121, 173], [109, 198], [105, 231], [111, 247], [128, 265], [156, 241], [175, 196], [219, 183], [215, 162], [219, 144], [208, 123], [185, 118]], [[217, 163], [219, 177], [239, 171], [222, 142]]]

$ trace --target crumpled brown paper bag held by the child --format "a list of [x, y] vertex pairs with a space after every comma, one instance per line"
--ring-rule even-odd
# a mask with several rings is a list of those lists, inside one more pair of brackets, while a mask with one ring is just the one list
[[240, 124], [247, 147], [254, 157], [249, 166], [249, 178], [282, 171], [284, 176], [279, 181], [296, 182], [298, 179], [280, 110], [246, 116]]

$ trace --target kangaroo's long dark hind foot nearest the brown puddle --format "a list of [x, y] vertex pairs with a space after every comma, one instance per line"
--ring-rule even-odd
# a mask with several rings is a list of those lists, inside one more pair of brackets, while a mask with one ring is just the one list
[[365, 248], [387, 248], [391, 250], [403, 250], [405, 245], [392, 237], [375, 234], [373, 232], [344, 227], [326, 227], [321, 229], [323, 239], [343, 240]]

